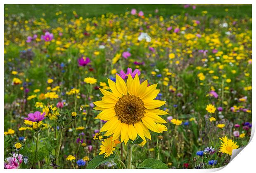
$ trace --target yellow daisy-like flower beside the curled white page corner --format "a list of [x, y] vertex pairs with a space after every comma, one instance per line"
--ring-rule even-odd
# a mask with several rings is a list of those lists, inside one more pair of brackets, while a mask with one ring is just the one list
[[227, 136], [225, 136], [224, 138], [223, 137], [219, 138], [219, 139], [223, 141], [220, 145], [219, 152], [226, 153], [231, 156], [232, 150], [237, 149], [239, 147], [238, 145], [236, 145], [237, 143], [232, 141], [232, 139], [228, 139]]

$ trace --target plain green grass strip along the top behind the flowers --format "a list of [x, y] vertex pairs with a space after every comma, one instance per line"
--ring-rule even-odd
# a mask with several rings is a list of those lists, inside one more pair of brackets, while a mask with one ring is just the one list
[[[56, 13], [62, 11], [67, 14], [67, 19], [72, 18], [73, 11], [78, 16], [94, 17], [101, 16], [108, 12], [114, 14], [123, 14], [132, 8], [137, 11], [142, 10], [145, 15], [156, 13], [155, 9], [159, 9], [158, 15], [171, 16], [174, 14], [188, 13], [192, 16], [200, 15], [202, 11], [207, 11], [208, 15], [223, 18], [231, 16], [234, 18], [251, 17], [251, 5], [196, 5], [196, 9], [192, 7], [184, 8], [183, 5], [5, 5], [5, 14], [24, 14], [25, 19], [33, 17], [44, 17], [47, 21], [55, 21]], [[226, 9], [226, 10], [225, 10]], [[228, 9], [228, 10], [227, 10]], [[218, 12], [217, 12], [218, 11]], [[217, 12], [217, 13], [216, 13]]]

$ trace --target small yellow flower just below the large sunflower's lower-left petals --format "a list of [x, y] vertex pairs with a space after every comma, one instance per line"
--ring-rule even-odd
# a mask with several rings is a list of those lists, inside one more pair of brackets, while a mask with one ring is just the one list
[[115, 147], [115, 142], [111, 141], [111, 138], [104, 139], [104, 142], [102, 141], [102, 145], [100, 145], [99, 155], [104, 154], [105, 155], [104, 158], [109, 157], [110, 154], [114, 154], [113, 151], [116, 150], [114, 147]]

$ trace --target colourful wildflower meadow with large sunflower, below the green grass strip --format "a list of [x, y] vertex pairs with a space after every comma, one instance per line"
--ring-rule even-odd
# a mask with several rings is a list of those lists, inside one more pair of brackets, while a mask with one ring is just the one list
[[250, 5], [79, 6], [5, 5], [5, 168], [218, 168], [247, 145]]

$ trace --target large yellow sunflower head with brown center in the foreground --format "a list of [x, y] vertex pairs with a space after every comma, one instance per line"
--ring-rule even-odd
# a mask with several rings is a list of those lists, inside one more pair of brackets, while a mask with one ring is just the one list
[[165, 101], [154, 100], [159, 89], [157, 84], [147, 86], [147, 80], [140, 84], [136, 74], [134, 79], [129, 74], [127, 82], [116, 75], [116, 83], [108, 79], [112, 92], [100, 89], [104, 97], [96, 101], [95, 110], [101, 110], [96, 119], [107, 121], [100, 132], [107, 131], [105, 136], [113, 134], [113, 140], [121, 136], [121, 142], [126, 144], [129, 139], [135, 140], [137, 134], [146, 141], [151, 140], [149, 130], [160, 133], [156, 123], [166, 123], [159, 115], [167, 112], [156, 109], [164, 105]]

